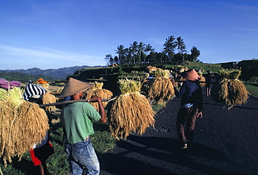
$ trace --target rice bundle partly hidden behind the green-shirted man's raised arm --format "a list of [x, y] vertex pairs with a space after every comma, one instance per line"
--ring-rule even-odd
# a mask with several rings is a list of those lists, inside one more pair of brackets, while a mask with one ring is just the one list
[[[91, 89], [89, 89], [84, 98], [85, 99], [91, 99], [93, 95], [97, 95], [101, 99], [111, 99], [113, 96], [113, 93], [110, 90], [105, 90], [102, 88], [103, 83], [94, 82], [91, 86]], [[98, 103], [97, 102], [89, 102], [91, 105], [98, 111]], [[107, 106], [108, 101], [103, 101], [104, 108]]]

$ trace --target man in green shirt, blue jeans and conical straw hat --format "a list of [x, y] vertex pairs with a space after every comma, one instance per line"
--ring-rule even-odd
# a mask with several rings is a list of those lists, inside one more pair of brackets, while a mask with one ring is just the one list
[[[70, 78], [59, 97], [70, 97], [70, 100], [79, 100], [84, 90], [91, 87], [90, 83]], [[92, 147], [89, 135], [94, 133], [92, 120], [105, 123], [106, 113], [102, 99], [93, 96], [91, 102], [98, 102], [99, 113], [89, 103], [75, 102], [63, 107], [61, 123], [70, 174], [100, 174], [100, 164], [96, 152]], [[84, 169], [85, 168], [85, 169]]]

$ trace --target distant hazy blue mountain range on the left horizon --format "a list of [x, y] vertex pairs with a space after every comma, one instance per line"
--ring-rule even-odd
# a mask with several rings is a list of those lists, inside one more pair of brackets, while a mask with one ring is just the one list
[[59, 69], [39, 69], [37, 67], [31, 68], [31, 69], [15, 69], [15, 70], [10, 70], [10, 69], [6, 69], [6, 70], [0, 70], [0, 72], [20, 72], [20, 73], [24, 73], [24, 74], [31, 74], [31, 75], [45, 75], [45, 76], [49, 76], [52, 77], [54, 79], [64, 79], [66, 78], [66, 76], [68, 75], [73, 75], [73, 73], [75, 73], [75, 71], [83, 69], [83, 68], [89, 68], [89, 67], [105, 67], [105, 66], [87, 66], [87, 65], [83, 65], [83, 66], [73, 66], [73, 67], [63, 67], [63, 68], [59, 68]]

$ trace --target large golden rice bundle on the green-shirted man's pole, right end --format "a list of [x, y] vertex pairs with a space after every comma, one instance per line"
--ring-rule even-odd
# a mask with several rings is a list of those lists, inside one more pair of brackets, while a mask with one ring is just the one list
[[109, 129], [117, 140], [126, 139], [130, 132], [142, 135], [146, 128], [154, 127], [155, 112], [148, 99], [139, 93], [140, 88], [139, 81], [119, 81], [121, 95], [116, 97], [109, 111]]

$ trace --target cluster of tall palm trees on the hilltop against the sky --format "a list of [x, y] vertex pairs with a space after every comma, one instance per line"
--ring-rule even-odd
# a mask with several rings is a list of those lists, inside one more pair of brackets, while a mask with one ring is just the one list
[[[178, 53], [174, 52], [176, 49]], [[179, 60], [199, 62], [197, 57], [200, 55], [200, 51], [196, 47], [192, 47], [191, 54], [187, 54], [185, 49], [185, 43], [181, 37], [174, 38], [174, 36], [169, 36], [166, 38], [165, 44], [163, 44], [162, 52], [155, 52], [155, 48], [151, 44], [134, 41], [128, 48], [119, 45], [115, 50], [118, 56], [113, 58], [111, 54], [107, 54], [105, 60], [107, 65], [113, 65], [114, 63], [119, 65], [174, 64]]]

